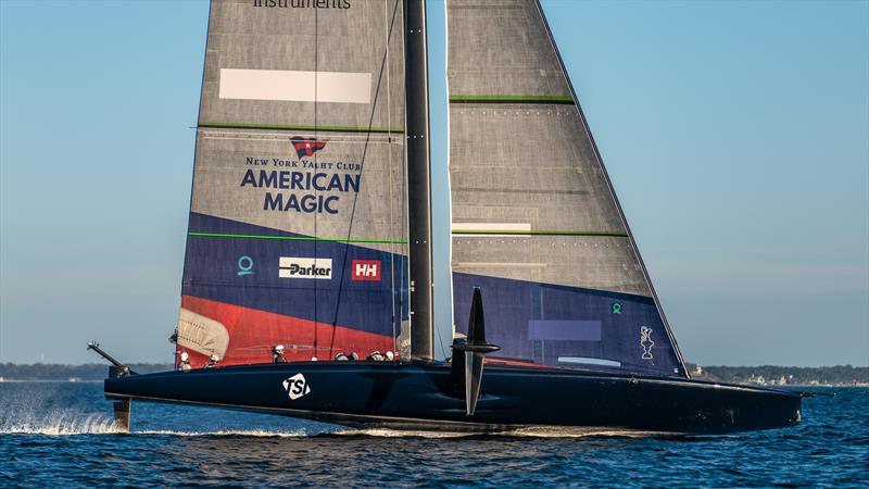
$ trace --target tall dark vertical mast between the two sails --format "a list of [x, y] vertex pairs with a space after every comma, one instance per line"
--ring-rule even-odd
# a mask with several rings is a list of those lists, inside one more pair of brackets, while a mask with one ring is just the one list
[[404, 0], [404, 83], [411, 268], [411, 356], [429, 361], [432, 349], [431, 167], [428, 143], [426, 2]]

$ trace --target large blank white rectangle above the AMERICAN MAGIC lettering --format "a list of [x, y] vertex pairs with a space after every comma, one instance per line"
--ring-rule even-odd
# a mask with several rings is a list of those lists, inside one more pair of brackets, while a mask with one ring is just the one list
[[221, 68], [222, 99], [370, 103], [371, 74]]

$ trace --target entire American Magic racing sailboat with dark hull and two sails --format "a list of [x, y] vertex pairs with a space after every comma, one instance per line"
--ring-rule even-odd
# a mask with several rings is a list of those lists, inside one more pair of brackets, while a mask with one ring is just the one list
[[176, 368], [90, 344], [118, 424], [134, 400], [396, 429], [797, 424], [798, 394], [691, 379], [539, 1], [445, 8], [436, 288], [425, 0], [213, 1]]

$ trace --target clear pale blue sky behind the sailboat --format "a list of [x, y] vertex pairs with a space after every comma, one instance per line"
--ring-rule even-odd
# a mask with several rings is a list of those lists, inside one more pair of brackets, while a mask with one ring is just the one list
[[[687, 359], [869, 364], [869, 3], [544, 10]], [[0, 17], [0, 362], [171, 362], [207, 3]], [[443, 22], [430, 1], [436, 196]]]

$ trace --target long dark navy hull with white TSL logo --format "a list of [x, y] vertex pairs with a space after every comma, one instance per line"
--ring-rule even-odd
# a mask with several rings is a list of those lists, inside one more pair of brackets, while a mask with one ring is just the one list
[[[473, 416], [446, 364], [302, 362], [105, 380], [112, 399], [206, 404], [354, 427], [533, 426], [728, 432], [794, 426], [798, 394], [695, 380], [487, 365]], [[302, 374], [285, 386], [285, 380]], [[289, 391], [304, 392], [290, 399]]]

